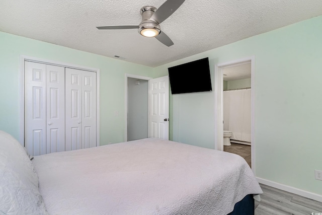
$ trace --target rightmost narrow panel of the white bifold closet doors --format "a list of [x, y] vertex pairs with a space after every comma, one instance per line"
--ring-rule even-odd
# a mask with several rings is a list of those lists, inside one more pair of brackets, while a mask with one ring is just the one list
[[82, 71], [82, 148], [96, 147], [96, 73]]

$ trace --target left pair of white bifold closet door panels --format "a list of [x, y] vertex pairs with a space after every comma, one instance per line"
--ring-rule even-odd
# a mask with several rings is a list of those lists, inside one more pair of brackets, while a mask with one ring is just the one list
[[31, 155], [65, 151], [65, 68], [25, 61], [25, 147]]

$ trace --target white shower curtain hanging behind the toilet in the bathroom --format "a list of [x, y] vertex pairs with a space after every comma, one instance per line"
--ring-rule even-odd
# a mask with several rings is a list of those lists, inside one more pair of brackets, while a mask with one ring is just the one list
[[230, 139], [251, 142], [251, 89], [223, 92], [223, 129]]

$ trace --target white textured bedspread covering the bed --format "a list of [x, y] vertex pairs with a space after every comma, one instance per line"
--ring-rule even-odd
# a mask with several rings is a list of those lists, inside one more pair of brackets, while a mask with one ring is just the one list
[[50, 214], [227, 214], [262, 193], [237, 155], [156, 138], [35, 156]]

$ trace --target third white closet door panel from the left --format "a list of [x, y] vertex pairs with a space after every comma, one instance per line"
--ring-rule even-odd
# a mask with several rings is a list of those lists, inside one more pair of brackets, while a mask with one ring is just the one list
[[65, 150], [82, 149], [82, 70], [65, 68]]

